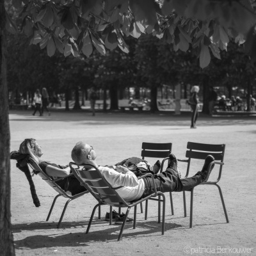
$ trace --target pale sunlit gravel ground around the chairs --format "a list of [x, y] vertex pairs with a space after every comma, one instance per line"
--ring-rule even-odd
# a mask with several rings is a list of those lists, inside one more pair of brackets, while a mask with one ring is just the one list
[[[24, 138], [36, 138], [42, 145], [44, 159], [59, 164], [71, 161], [70, 150], [77, 141], [93, 145], [97, 163], [115, 164], [129, 156], [140, 156], [141, 143], [172, 142], [173, 153], [185, 156], [186, 143], [225, 143], [225, 166], [220, 186], [223, 189], [230, 223], [225, 223], [220, 196], [216, 188], [195, 189], [193, 228], [189, 218], [183, 218], [182, 195], [175, 193], [175, 215], [170, 214], [167, 199], [166, 233], [155, 221], [157, 209], [150, 202], [147, 221], [138, 214], [138, 227], [127, 225], [124, 236], [117, 243], [120, 226], [109, 227], [103, 220], [95, 220], [90, 234], [84, 234], [95, 200], [90, 195], [68, 205], [63, 226], [56, 229], [64, 199], [57, 201], [49, 223], [44, 222], [56, 193], [35, 177], [41, 207], [31, 200], [28, 182], [12, 161], [12, 223], [17, 255], [256, 255], [255, 246], [255, 135], [256, 118], [214, 117], [201, 115], [198, 129], [189, 129], [189, 115], [141, 113], [65, 113], [51, 116], [31, 116], [28, 111], [10, 111], [11, 150], [17, 150]], [[156, 159], [150, 160], [154, 163]], [[195, 173], [202, 163], [193, 164]], [[180, 164], [180, 169], [185, 166]], [[184, 171], [182, 172], [184, 175]], [[212, 177], [214, 177], [212, 172]], [[168, 195], [166, 195], [167, 198]], [[189, 209], [189, 194], [187, 193]], [[108, 208], [102, 209], [102, 216]], [[132, 217], [132, 215], [131, 215]], [[202, 249], [200, 252], [199, 248]], [[225, 248], [227, 250], [225, 250]], [[230, 248], [234, 251], [230, 252]], [[252, 253], [241, 248], [254, 248]], [[219, 251], [218, 251], [219, 249]], [[223, 249], [222, 251], [220, 251]], [[198, 250], [198, 251], [196, 251]], [[205, 250], [205, 252], [203, 252]], [[228, 251], [229, 250], [229, 251]], [[237, 251], [236, 251], [237, 250]], [[195, 252], [195, 253], [194, 253]], [[235, 253], [234, 253], [235, 252]]]

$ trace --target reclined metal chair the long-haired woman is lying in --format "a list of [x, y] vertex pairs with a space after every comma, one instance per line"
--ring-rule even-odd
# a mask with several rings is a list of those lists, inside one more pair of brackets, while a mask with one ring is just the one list
[[[49, 177], [45, 172], [43, 172], [43, 170], [40, 168], [40, 166], [38, 166], [38, 164], [33, 160], [32, 157], [29, 157], [28, 164], [29, 164], [29, 166], [30, 166], [33, 170], [35, 170], [36, 173], [38, 173], [38, 174], [37, 174], [38, 176], [40, 176], [47, 184], [49, 184], [49, 186], [51, 186], [51, 187], [58, 193], [58, 195], [56, 195], [56, 196], [54, 197], [54, 200], [53, 200], [53, 202], [52, 202], [52, 206], [51, 206], [51, 209], [50, 209], [50, 211], [49, 211], [49, 214], [48, 214], [48, 216], [47, 216], [46, 221], [49, 221], [49, 218], [50, 218], [51, 213], [52, 213], [52, 209], [53, 209], [53, 207], [54, 207], [54, 204], [55, 204], [57, 198], [58, 198], [59, 196], [63, 196], [63, 197], [65, 197], [65, 198], [68, 198], [68, 200], [67, 200], [67, 202], [66, 202], [66, 204], [65, 204], [65, 207], [64, 207], [64, 209], [63, 209], [63, 211], [62, 211], [62, 214], [61, 214], [60, 220], [59, 220], [59, 222], [58, 222], [58, 225], [57, 225], [57, 228], [60, 228], [61, 221], [62, 221], [62, 219], [63, 219], [63, 216], [64, 216], [64, 214], [65, 214], [65, 211], [66, 211], [66, 209], [67, 209], [68, 204], [69, 204], [72, 200], [74, 200], [74, 199], [76, 199], [76, 198], [79, 198], [80, 196], [83, 196], [84, 194], [88, 193], [88, 191], [84, 191], [84, 192], [82, 192], [82, 193], [79, 193], [79, 194], [77, 194], [77, 195], [73, 195], [73, 196], [72, 196], [72, 195], [70, 195], [70, 193], [69, 193], [68, 191], [66, 192], [66, 191], [64, 191], [62, 188], [60, 188], [60, 186], [58, 186], [58, 184], [57, 184], [56, 182], [57, 182], [58, 180], [62, 180], [62, 179], [65, 179], [66, 177], [70, 177], [70, 176], [74, 175], [73, 173], [71, 173], [70, 175], [68, 175], [68, 176], [66, 176], [66, 177], [61, 177], [61, 178], [59, 178], [59, 179], [54, 179], [54, 180], [53, 180], [53, 179], [51, 179], [51, 177]], [[99, 219], [100, 219], [100, 208], [99, 208]]]

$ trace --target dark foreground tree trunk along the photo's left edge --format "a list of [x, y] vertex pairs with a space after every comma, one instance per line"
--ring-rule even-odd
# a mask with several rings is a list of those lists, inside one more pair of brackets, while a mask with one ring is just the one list
[[15, 255], [11, 230], [10, 127], [5, 61], [5, 10], [0, 0], [0, 252]]

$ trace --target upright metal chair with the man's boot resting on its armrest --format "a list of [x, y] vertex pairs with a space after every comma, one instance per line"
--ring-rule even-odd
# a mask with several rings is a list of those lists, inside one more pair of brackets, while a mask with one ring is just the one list
[[[186, 157], [188, 157], [188, 159], [177, 159], [180, 162], [184, 162], [187, 163], [187, 171], [186, 171], [186, 175], [184, 176], [184, 178], [188, 177], [189, 175], [189, 168], [191, 166], [191, 159], [202, 159], [204, 160], [205, 157], [207, 157], [208, 155], [212, 155], [215, 159], [215, 161], [213, 161], [211, 164], [209, 164], [209, 168], [211, 168], [212, 164], [218, 164], [220, 166], [219, 170], [213, 169], [212, 172], [219, 172], [218, 173], [218, 178], [214, 181], [208, 181], [209, 179], [209, 175], [207, 177], [207, 179], [205, 180], [205, 182], [202, 182], [200, 185], [214, 185], [218, 188], [219, 192], [220, 192], [220, 198], [221, 198], [221, 203], [223, 206], [223, 210], [225, 213], [225, 217], [226, 217], [226, 221], [227, 223], [228, 221], [228, 215], [227, 215], [227, 211], [226, 211], [226, 207], [225, 207], [225, 203], [224, 203], [224, 199], [223, 199], [223, 195], [221, 192], [221, 188], [220, 186], [217, 184], [220, 179], [221, 179], [221, 172], [222, 172], [222, 166], [224, 164], [223, 160], [224, 160], [224, 154], [225, 154], [225, 144], [220, 144], [220, 145], [215, 145], [215, 144], [203, 144], [203, 143], [194, 143], [194, 142], [188, 142], [187, 144], [187, 151], [186, 151]], [[167, 161], [168, 158], [163, 160]], [[189, 227], [192, 227], [192, 220], [193, 220], [193, 192], [194, 192], [194, 188], [191, 189], [191, 199], [190, 199], [190, 223], [189, 223]], [[172, 195], [172, 192], [170, 192], [170, 196]], [[186, 193], [185, 191], [183, 191], [183, 202], [184, 202], [184, 217], [187, 216], [187, 212], [186, 212]], [[173, 209], [173, 202], [171, 200], [171, 206]], [[173, 213], [172, 213], [173, 214]]]

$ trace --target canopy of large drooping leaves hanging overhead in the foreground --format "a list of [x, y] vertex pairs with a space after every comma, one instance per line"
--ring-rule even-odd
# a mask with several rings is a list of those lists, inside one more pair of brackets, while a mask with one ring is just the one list
[[[9, 1], [10, 2], [10, 1]], [[173, 45], [175, 51], [196, 52], [200, 67], [211, 56], [220, 59], [230, 38], [243, 44], [256, 58], [254, 49], [256, 16], [250, 0], [13, 0], [20, 10], [22, 32], [31, 44], [68, 56], [90, 56], [119, 47], [129, 52], [127, 36], [148, 33]], [[17, 31], [6, 15], [6, 29]], [[212, 54], [211, 54], [212, 53]]]

